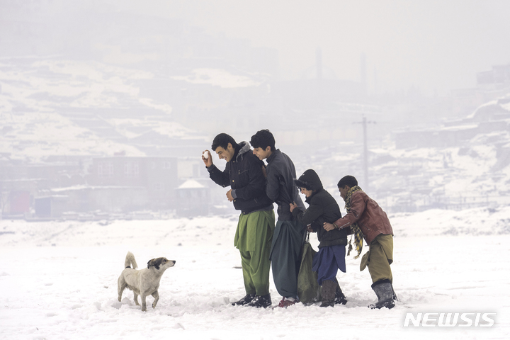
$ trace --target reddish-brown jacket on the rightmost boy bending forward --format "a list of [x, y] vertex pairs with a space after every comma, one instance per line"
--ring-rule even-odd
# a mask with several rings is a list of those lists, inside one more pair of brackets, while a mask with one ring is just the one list
[[375, 200], [363, 191], [356, 191], [351, 196], [351, 211], [334, 222], [339, 229], [358, 223], [365, 241], [370, 244], [378, 234], [393, 234], [386, 212]]

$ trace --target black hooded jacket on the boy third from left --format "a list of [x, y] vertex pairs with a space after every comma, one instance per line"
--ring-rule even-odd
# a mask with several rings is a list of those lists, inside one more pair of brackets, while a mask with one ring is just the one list
[[322, 183], [315, 171], [312, 169], [305, 171], [295, 183], [297, 186], [314, 191], [312, 196], [305, 200], [310, 205], [308, 209], [303, 211], [300, 208], [295, 208], [293, 216], [303, 225], [311, 225], [312, 230], [317, 232], [317, 239], [320, 242], [319, 248], [346, 245], [347, 234], [345, 229], [333, 229], [327, 232], [323, 227], [324, 222], [333, 223], [341, 218], [341, 212], [333, 196], [322, 188]]

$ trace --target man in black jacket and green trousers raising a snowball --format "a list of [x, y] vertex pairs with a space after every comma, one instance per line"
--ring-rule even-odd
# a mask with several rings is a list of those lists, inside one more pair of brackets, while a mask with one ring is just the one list
[[269, 253], [275, 217], [273, 202], [266, 196], [263, 162], [255, 157], [247, 142], [237, 144], [225, 133], [215, 137], [211, 148], [227, 165], [224, 171], [217, 169], [210, 152], [205, 150], [202, 159], [210, 179], [224, 188], [230, 186], [227, 199], [241, 210], [234, 246], [241, 254], [246, 296], [232, 305], [269, 307]]

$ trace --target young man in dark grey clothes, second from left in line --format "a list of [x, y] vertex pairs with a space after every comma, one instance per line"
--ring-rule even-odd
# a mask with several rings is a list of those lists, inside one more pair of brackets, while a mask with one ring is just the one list
[[271, 244], [271, 266], [276, 290], [283, 296], [278, 307], [288, 307], [297, 302], [297, 274], [301, 263], [301, 246], [305, 237], [305, 226], [293, 219], [290, 203], [295, 202], [302, 210], [305, 205], [299, 196], [294, 179], [292, 160], [280, 149], [275, 149], [275, 140], [269, 130], [260, 130], [251, 136], [251, 146], [256, 157], [266, 159], [266, 194], [278, 204], [278, 222]]

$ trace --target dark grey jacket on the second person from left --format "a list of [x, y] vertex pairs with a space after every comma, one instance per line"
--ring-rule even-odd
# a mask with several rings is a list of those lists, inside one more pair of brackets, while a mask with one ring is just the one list
[[289, 203], [296, 203], [297, 207], [305, 210], [305, 205], [299, 196], [294, 179], [295, 167], [292, 160], [280, 149], [276, 149], [267, 159], [266, 168], [268, 198], [278, 205], [278, 221], [293, 220]]

